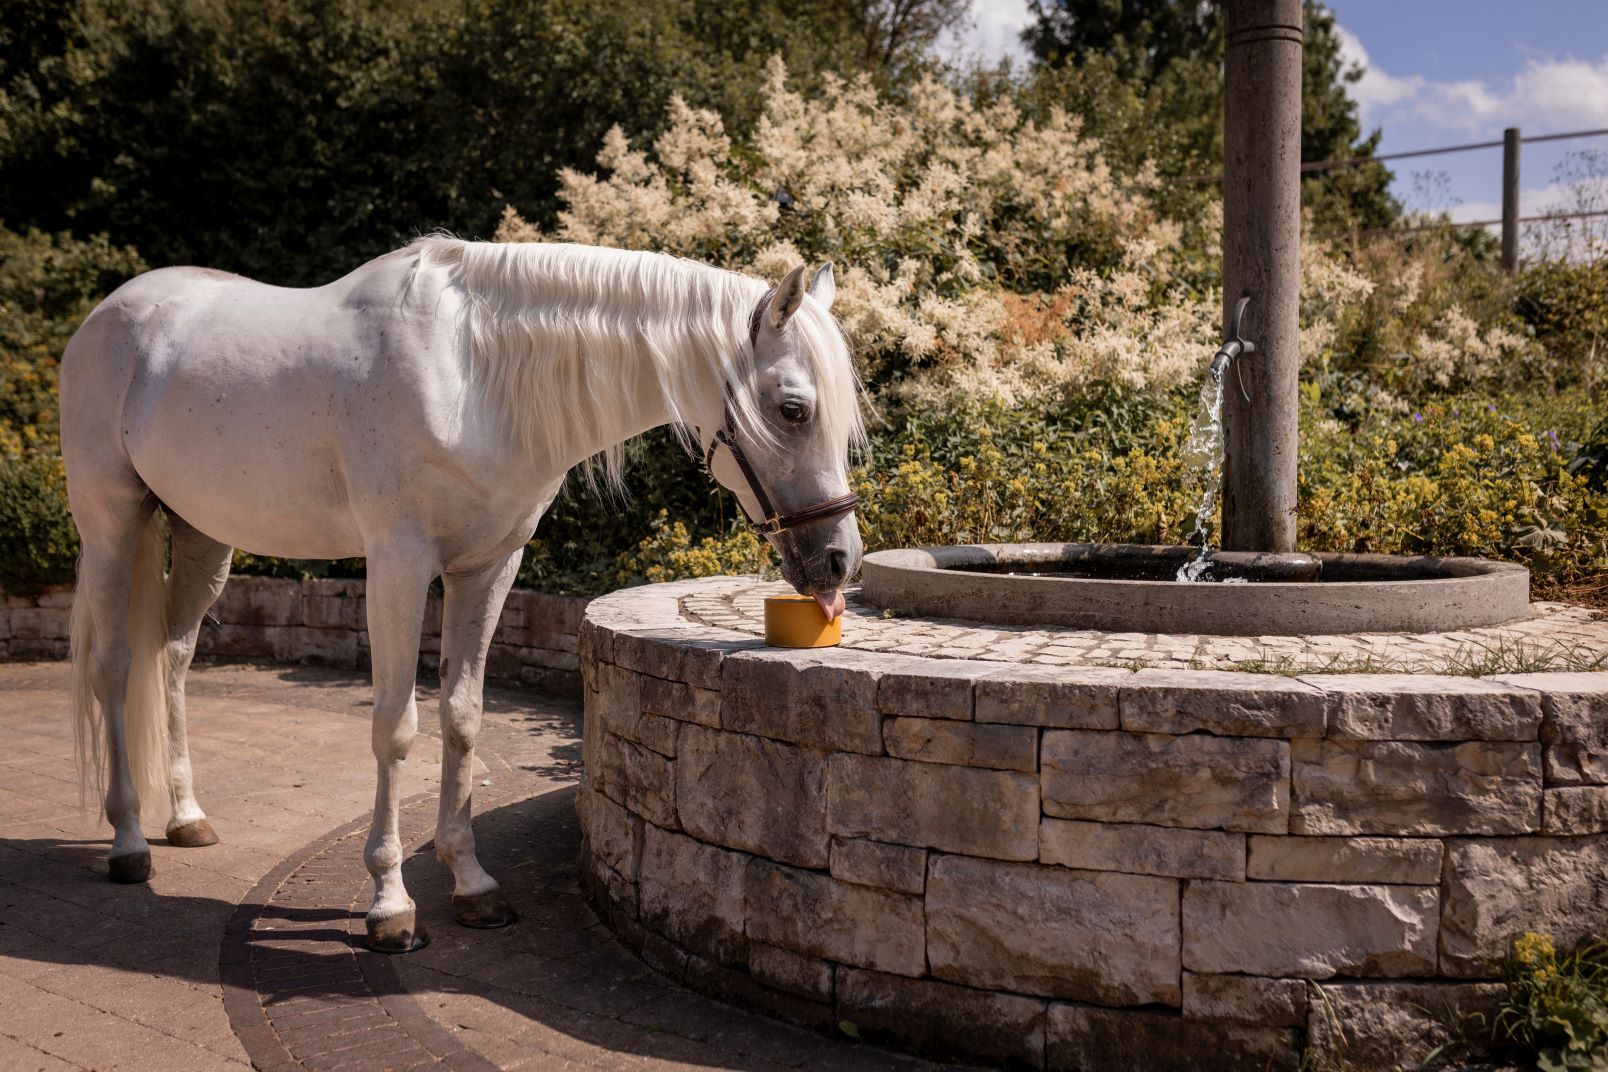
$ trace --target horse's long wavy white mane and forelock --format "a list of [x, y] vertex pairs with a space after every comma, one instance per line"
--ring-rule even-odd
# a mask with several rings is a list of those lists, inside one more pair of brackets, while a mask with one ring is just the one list
[[[635, 431], [621, 400], [635, 395], [642, 376], [658, 383], [688, 447], [698, 405], [719, 397], [722, 383], [740, 432], [769, 439], [748, 346], [767, 289], [759, 280], [598, 246], [428, 236], [412, 249], [420, 270], [447, 267], [463, 288], [471, 379], [535, 456], [563, 458], [600, 429], [617, 432], [601, 455], [617, 489], [624, 440]], [[822, 432], [859, 445], [859, 381], [838, 321], [806, 299], [788, 325], [810, 365]]]

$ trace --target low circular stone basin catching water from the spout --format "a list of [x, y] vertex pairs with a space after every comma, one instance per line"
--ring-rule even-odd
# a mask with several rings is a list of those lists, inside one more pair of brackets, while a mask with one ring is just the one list
[[1174, 580], [1196, 553], [1134, 543], [900, 548], [865, 556], [862, 595], [923, 617], [1217, 636], [1452, 632], [1529, 614], [1529, 571], [1513, 563], [1219, 551], [1203, 580]]

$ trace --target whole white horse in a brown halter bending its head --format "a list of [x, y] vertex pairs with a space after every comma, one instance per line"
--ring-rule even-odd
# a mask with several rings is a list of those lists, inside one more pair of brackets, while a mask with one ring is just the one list
[[[90, 313], [61, 363], [61, 452], [84, 540], [72, 604], [80, 773], [105, 778], [111, 878], [143, 882], [140, 807], [217, 841], [196, 802], [185, 673], [230, 550], [368, 559], [368, 942], [425, 943], [397, 800], [425, 599], [442, 579], [436, 855], [466, 926], [513, 911], [474, 857], [470, 768], [486, 649], [564, 474], [659, 424], [706, 450], [828, 614], [857, 569], [847, 452], [859, 384], [831, 265], [773, 289], [664, 254], [425, 238], [328, 286], [162, 268]], [[730, 450], [716, 450], [725, 444]], [[164, 572], [158, 508], [172, 530]]]

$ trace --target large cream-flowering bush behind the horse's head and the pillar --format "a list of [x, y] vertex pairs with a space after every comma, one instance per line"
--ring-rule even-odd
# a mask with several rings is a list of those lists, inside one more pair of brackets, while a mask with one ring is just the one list
[[[1063, 111], [1036, 121], [1010, 98], [976, 103], [934, 79], [897, 101], [867, 79], [804, 96], [773, 59], [748, 145], [672, 98], [651, 146], [614, 129], [597, 174], [561, 174], [550, 235], [510, 207], [497, 236], [661, 249], [769, 278], [831, 259], [835, 310], [883, 399], [1011, 403], [1201, 373], [1222, 293], [1177, 252], [1180, 227], [1158, 215], [1155, 188], [1148, 169], [1113, 172]], [[1394, 246], [1343, 259], [1307, 238], [1302, 362], [1388, 362], [1397, 389], [1512, 368], [1532, 344], [1450, 304], [1465, 283], [1454, 264]]]

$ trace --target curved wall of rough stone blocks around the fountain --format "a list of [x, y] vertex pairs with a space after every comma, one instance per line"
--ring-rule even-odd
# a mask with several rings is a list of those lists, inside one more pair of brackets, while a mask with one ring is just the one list
[[579, 796], [609, 926], [730, 1000], [1028, 1067], [1396, 1067], [1513, 932], [1608, 926], [1608, 675], [780, 651], [685, 616], [732, 583], [589, 608]]

